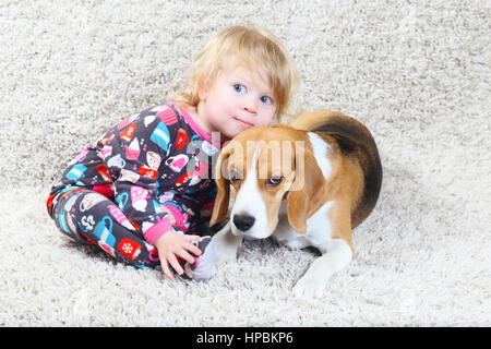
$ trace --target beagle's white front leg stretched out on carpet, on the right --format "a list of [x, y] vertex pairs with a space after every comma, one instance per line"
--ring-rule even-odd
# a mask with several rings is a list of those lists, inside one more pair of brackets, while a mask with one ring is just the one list
[[331, 241], [327, 251], [316, 258], [307, 269], [306, 274], [298, 280], [294, 287], [296, 297], [312, 299], [320, 298], [324, 292], [328, 279], [336, 272], [343, 269], [351, 262], [352, 252], [349, 244], [343, 239]]

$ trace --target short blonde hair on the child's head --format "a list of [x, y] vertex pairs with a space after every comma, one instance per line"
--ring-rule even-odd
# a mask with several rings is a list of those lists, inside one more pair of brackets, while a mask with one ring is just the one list
[[261, 69], [266, 72], [279, 121], [287, 111], [299, 77], [283, 44], [265, 28], [231, 26], [213, 36], [189, 67], [183, 86], [172, 99], [196, 107], [200, 87], [205, 83], [213, 84], [230, 57], [251, 72], [259, 73]]

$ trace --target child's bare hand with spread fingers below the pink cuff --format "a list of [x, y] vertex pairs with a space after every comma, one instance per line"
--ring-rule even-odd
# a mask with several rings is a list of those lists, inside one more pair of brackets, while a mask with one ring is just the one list
[[193, 253], [196, 256], [201, 254], [201, 250], [191, 243], [196, 239], [200, 239], [200, 237], [185, 236], [173, 231], [167, 231], [157, 240], [155, 240], [154, 245], [158, 250], [158, 257], [160, 258], [161, 269], [169, 279], [173, 279], [173, 274], [172, 272], [170, 272], [169, 264], [179, 275], [182, 275], [182, 273], [184, 273], [178, 262], [178, 256], [193, 264], [194, 257], [189, 252]]

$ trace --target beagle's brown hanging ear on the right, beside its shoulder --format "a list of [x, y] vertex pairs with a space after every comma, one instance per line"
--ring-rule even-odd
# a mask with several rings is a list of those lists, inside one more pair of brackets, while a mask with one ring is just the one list
[[307, 218], [323, 203], [324, 176], [308, 149], [296, 154], [295, 163], [295, 181], [287, 195], [288, 222], [297, 232], [306, 233]]

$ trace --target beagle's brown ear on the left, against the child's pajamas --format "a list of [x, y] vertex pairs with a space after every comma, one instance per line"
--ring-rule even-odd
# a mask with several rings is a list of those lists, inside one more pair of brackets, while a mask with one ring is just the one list
[[221, 168], [226, 165], [226, 160], [230, 156], [230, 147], [226, 146], [220, 155], [215, 168], [215, 182], [217, 186], [217, 194], [215, 205], [213, 207], [212, 219], [209, 226], [220, 222], [227, 218], [228, 203], [230, 200], [230, 181], [224, 177]]

